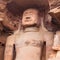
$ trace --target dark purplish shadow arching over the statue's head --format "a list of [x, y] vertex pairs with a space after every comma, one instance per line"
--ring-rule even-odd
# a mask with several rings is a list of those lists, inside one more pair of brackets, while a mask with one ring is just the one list
[[20, 16], [20, 15], [22, 15], [23, 11], [26, 10], [26, 9], [36, 8], [38, 10], [44, 11], [46, 7], [44, 7], [43, 5], [39, 6], [39, 5], [36, 5], [36, 4], [23, 7], [23, 6], [19, 6], [16, 2], [12, 1], [10, 3], [7, 3], [6, 8], [13, 15]]

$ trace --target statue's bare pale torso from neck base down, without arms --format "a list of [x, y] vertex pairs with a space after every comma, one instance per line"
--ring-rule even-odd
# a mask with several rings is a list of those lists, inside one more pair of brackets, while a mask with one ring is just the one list
[[39, 31], [27, 30], [15, 41], [16, 60], [40, 60], [43, 39]]

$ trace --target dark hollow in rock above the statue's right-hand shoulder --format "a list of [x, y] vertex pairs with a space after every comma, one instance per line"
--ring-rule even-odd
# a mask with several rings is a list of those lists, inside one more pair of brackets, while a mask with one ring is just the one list
[[60, 30], [60, 23], [58, 22], [57, 19], [52, 17], [51, 22], [49, 20], [46, 21], [46, 19], [44, 20], [44, 26], [45, 28], [50, 31], [50, 32], [56, 32], [58, 30]]

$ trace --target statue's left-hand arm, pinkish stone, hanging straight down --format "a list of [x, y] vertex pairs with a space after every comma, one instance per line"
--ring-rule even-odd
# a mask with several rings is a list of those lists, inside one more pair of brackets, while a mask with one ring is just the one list
[[9, 36], [6, 42], [4, 60], [13, 59], [13, 45], [14, 45], [13, 36]]

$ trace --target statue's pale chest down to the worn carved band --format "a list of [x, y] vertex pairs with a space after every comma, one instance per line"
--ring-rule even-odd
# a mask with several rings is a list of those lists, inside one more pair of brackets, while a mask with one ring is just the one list
[[15, 41], [16, 47], [40, 46], [43, 39], [39, 32], [25, 32]]

